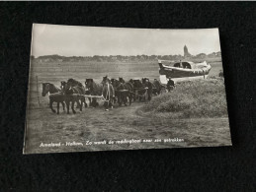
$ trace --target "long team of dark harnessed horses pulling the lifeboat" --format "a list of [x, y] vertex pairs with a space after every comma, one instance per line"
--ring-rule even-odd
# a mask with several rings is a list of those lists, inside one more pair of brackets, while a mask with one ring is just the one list
[[[74, 79], [68, 79], [66, 82], [60, 82], [60, 88], [57, 88], [53, 84], [43, 83], [42, 96], [49, 95], [49, 107], [52, 112], [59, 114], [59, 104], [61, 103], [63, 110], [65, 106], [67, 113], [69, 114], [69, 108], [71, 106], [72, 112], [76, 108], [82, 111], [82, 107], [87, 107], [86, 97], [88, 97], [89, 105], [96, 107], [99, 106], [98, 99], [102, 99], [106, 110], [113, 108], [115, 103], [119, 106], [130, 105], [132, 101], [138, 100], [150, 100], [152, 95], [159, 95], [162, 86], [155, 79], [150, 82], [147, 78], [141, 80], [130, 79], [126, 82], [123, 78], [109, 79], [108, 76], [103, 77], [100, 84], [96, 83], [93, 79], [86, 79], [84, 85]], [[52, 107], [52, 103], [57, 103], [57, 111]]]

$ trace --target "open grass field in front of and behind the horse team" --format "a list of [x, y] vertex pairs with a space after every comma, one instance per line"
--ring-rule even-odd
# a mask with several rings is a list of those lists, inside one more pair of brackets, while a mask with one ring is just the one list
[[[210, 76], [217, 76], [221, 62], [213, 61]], [[59, 153], [75, 151], [130, 150], [148, 148], [209, 147], [231, 145], [227, 116], [207, 118], [168, 119], [137, 113], [144, 102], [133, 102], [131, 106], [115, 106], [104, 111], [98, 108], [83, 108], [81, 113], [56, 115], [51, 112], [47, 96], [41, 96], [42, 83], [60, 86], [60, 81], [74, 78], [84, 82], [93, 78], [100, 82], [110, 78], [147, 77], [158, 79], [157, 62], [144, 63], [45, 63], [32, 64], [28, 95], [26, 149], [25, 153]], [[36, 76], [39, 79], [37, 92]], [[38, 103], [38, 96], [40, 104]], [[55, 106], [54, 106], [55, 107]], [[78, 111], [78, 110], [77, 110]], [[168, 142], [180, 138], [181, 142]], [[146, 139], [134, 144], [104, 145], [94, 142]], [[158, 142], [149, 141], [157, 140]], [[148, 140], [148, 141], [147, 141]], [[166, 142], [164, 142], [166, 140]], [[167, 141], [168, 140], [168, 141]], [[86, 145], [90, 141], [92, 145]], [[172, 141], [172, 140], [171, 140]], [[42, 148], [42, 143], [61, 143], [61, 146]], [[83, 146], [65, 146], [65, 142], [80, 142]]]

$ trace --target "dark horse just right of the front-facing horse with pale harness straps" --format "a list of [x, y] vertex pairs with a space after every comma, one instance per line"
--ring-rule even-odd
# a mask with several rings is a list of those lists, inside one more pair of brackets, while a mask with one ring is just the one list
[[122, 102], [127, 106], [127, 102], [129, 101], [129, 105], [131, 104], [132, 96], [133, 96], [133, 85], [129, 82], [125, 82], [123, 78], [120, 80], [112, 79], [111, 83], [115, 90], [115, 95], [118, 97], [119, 105], [122, 105]]

